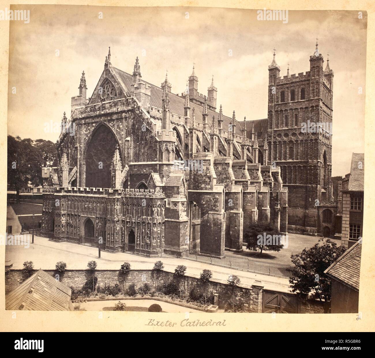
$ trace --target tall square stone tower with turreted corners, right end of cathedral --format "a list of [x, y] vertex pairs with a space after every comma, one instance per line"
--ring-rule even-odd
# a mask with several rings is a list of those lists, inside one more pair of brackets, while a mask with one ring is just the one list
[[332, 201], [333, 71], [318, 50], [310, 70], [280, 76], [275, 60], [269, 70], [268, 162], [281, 166], [289, 192], [290, 232], [317, 233], [317, 208]]

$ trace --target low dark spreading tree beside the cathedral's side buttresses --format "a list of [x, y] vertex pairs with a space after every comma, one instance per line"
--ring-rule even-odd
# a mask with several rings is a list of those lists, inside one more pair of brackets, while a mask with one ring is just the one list
[[244, 238], [248, 242], [247, 249], [260, 251], [263, 250], [280, 251], [283, 248], [281, 244], [282, 234], [271, 223], [254, 223], [244, 232]]

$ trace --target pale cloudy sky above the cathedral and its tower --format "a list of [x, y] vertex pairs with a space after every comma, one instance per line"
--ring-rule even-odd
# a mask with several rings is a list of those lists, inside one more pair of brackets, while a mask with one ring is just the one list
[[91, 96], [108, 46], [115, 67], [132, 73], [138, 56], [142, 78], [155, 85], [168, 69], [174, 93], [184, 91], [194, 62], [198, 91], [207, 94], [213, 74], [217, 103], [226, 115], [235, 110], [237, 120], [265, 118], [272, 49], [282, 76], [287, 63], [291, 74], [306, 72], [318, 37], [319, 50], [324, 60], [329, 53], [335, 73], [332, 175], [347, 174], [351, 153], [364, 151], [366, 13], [359, 19], [358, 12], [289, 11], [283, 24], [258, 21], [256, 10], [22, 8], [30, 9], [30, 23], [10, 21], [10, 135], [56, 141], [58, 133], [46, 132], [46, 123], [58, 125], [64, 111], [70, 114], [83, 70]]

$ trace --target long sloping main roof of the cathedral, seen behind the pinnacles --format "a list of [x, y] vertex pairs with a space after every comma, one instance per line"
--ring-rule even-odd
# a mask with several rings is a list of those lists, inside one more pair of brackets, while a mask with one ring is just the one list
[[[126, 91], [130, 92], [131, 90], [131, 85], [133, 83], [133, 76], [130, 75], [129, 73], [126, 73], [116, 67], [113, 67], [113, 69], [116, 71], [117, 75], [122, 79], [124, 84], [126, 85]], [[144, 81], [144, 80], [142, 80]], [[149, 83], [147, 81], [144, 81], [147, 84], [151, 86], [150, 94], [151, 94], [151, 106], [156, 107], [156, 108], [162, 108], [162, 97], [163, 97], [163, 90], [160, 87], [157, 87], [153, 85], [152, 83]], [[185, 105], [185, 100], [183, 97], [177, 96], [177, 94], [174, 93], [169, 93], [169, 109], [171, 110], [171, 113], [177, 114], [181, 117], [184, 116], [184, 105]], [[202, 123], [202, 114], [203, 114], [203, 107], [190, 102], [190, 118], [192, 116], [192, 110], [195, 108], [195, 120], [196, 122]], [[211, 111], [208, 109], [208, 124], [211, 126], [212, 122], [212, 116], [215, 116], [215, 122], [216, 122], [216, 127], [217, 127], [217, 118], [219, 118], [219, 113]], [[228, 132], [229, 128], [229, 123], [231, 121], [231, 117], [227, 117], [223, 115], [223, 130]], [[239, 121], [237, 121], [237, 126], [236, 126], [236, 134], [242, 136], [242, 127]]]

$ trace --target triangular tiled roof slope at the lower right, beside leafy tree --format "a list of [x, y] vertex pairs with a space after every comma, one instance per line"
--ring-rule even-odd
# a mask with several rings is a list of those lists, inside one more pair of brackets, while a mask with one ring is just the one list
[[362, 242], [358, 241], [345, 251], [324, 273], [359, 291]]

